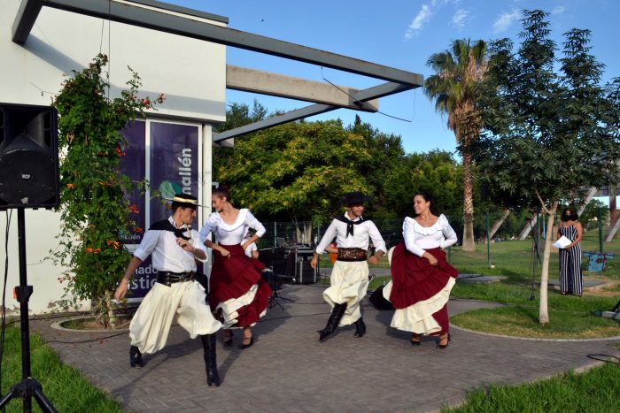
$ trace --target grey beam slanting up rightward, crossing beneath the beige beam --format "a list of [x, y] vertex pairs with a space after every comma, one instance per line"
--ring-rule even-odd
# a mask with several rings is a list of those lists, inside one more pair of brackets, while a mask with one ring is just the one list
[[[414, 87], [389, 82], [382, 85], [374, 86], [372, 88], [360, 90], [353, 95], [353, 98], [355, 100], [359, 100], [360, 102], [368, 102], [372, 99], [378, 99], [379, 97], [404, 92], [405, 90], [409, 90], [412, 88]], [[328, 111], [334, 111], [336, 109], [340, 109], [340, 107], [329, 104], [313, 104], [295, 111], [286, 112], [283, 115], [254, 122], [251, 125], [236, 127], [235, 129], [230, 129], [228, 131], [222, 132], [221, 134], [213, 134], [213, 143], [219, 144], [219, 142], [221, 141], [225, 141], [242, 134], [250, 134], [252, 132], [257, 132], [262, 129], [267, 129], [267, 127], [282, 125], [286, 122], [308, 118], [310, 116], [319, 115]]]

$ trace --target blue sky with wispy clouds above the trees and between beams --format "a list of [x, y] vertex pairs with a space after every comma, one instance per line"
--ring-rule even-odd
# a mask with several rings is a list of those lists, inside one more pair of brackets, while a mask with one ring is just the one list
[[[593, 55], [607, 65], [604, 79], [620, 76], [618, 39], [620, 1], [617, 0], [167, 0], [196, 10], [229, 18], [229, 27], [274, 37], [316, 49], [327, 50], [369, 62], [388, 65], [424, 78], [432, 74], [426, 61], [446, 50], [454, 39], [512, 38], [518, 44], [523, 9], [551, 13], [552, 37], [562, 47], [562, 34], [571, 28], [592, 30]], [[368, 88], [382, 82], [316, 65], [293, 62], [247, 50], [228, 48], [227, 63], [282, 73], [308, 80], [329, 81], [353, 88]], [[229, 103], [253, 99], [269, 111], [289, 111], [309, 103], [229, 90]], [[455, 150], [454, 135], [446, 119], [434, 111], [422, 89], [387, 96], [380, 110], [410, 120], [391, 119], [378, 113], [359, 112], [364, 122], [384, 133], [402, 137], [407, 152], [432, 149]], [[353, 123], [355, 111], [339, 110], [309, 118], [343, 119]]]

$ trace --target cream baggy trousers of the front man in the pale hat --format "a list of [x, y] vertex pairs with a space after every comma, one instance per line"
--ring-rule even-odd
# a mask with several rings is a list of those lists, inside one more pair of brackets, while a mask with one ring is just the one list
[[156, 282], [131, 319], [131, 345], [141, 353], [164, 348], [174, 316], [192, 339], [217, 332], [221, 323], [211, 314], [205, 298], [205, 288], [198, 281], [177, 282], [170, 287]]

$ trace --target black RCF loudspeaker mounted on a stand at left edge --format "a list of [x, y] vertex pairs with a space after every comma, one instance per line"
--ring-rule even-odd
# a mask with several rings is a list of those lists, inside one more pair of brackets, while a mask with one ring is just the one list
[[58, 206], [58, 112], [0, 103], [0, 209]]

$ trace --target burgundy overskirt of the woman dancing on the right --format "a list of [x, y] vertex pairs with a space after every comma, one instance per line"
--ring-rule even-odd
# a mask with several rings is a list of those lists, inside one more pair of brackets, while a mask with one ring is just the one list
[[430, 265], [429, 260], [407, 251], [401, 241], [391, 255], [391, 294], [390, 301], [395, 309], [406, 309], [416, 302], [428, 300], [438, 294], [448, 282], [459, 275], [446, 261], [446, 253], [441, 249], [427, 249], [438, 260]]

